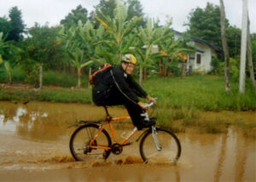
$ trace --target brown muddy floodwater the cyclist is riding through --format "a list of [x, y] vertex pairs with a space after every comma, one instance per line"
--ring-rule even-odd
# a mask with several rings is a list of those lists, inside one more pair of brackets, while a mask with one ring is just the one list
[[[127, 114], [119, 107], [110, 113]], [[67, 127], [103, 117], [104, 110], [91, 105], [0, 102], [0, 181], [256, 181], [256, 140], [239, 128], [229, 128], [228, 134], [177, 134], [183, 149], [177, 165], [144, 164], [139, 133], [133, 145], [106, 162], [74, 162], [68, 142], [75, 128]], [[114, 127], [120, 140], [132, 125]]]

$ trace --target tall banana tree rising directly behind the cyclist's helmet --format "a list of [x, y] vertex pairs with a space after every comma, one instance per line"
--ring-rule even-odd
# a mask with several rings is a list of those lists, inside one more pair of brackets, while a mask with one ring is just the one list
[[[109, 53], [113, 61], [112, 63], [118, 63], [121, 60], [121, 56], [130, 52], [130, 47], [135, 40], [136, 34], [132, 34], [136, 30], [137, 23], [142, 20], [142, 17], [133, 17], [131, 20], [127, 20], [127, 8], [125, 4], [120, 4], [117, 0], [117, 7], [114, 11], [114, 18], [101, 14], [100, 17], [95, 17], [101, 25], [108, 31], [110, 37], [108, 37]], [[130, 37], [129, 39], [125, 37]]]

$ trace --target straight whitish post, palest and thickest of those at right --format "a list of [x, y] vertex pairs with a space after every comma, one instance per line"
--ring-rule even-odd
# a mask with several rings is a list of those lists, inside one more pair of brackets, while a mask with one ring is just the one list
[[240, 58], [240, 75], [239, 75], [239, 92], [245, 93], [245, 69], [247, 56], [247, 5], [248, 1], [243, 0], [242, 5], [242, 21], [241, 21], [241, 58]]

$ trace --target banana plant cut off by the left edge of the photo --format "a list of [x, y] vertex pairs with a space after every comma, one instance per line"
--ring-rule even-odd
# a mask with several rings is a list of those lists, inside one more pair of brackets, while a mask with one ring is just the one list
[[0, 32], [0, 65], [4, 65], [5, 70], [8, 74], [9, 77], [9, 83], [12, 82], [12, 77], [11, 77], [11, 69], [9, 62], [7, 60], [3, 60], [3, 54], [4, 54], [4, 49], [9, 48], [8, 44], [4, 42], [5, 38], [3, 37], [3, 32]]

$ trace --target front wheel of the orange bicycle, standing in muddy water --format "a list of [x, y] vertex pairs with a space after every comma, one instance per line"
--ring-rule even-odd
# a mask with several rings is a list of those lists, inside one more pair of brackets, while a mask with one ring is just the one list
[[156, 128], [156, 134], [148, 130], [140, 143], [140, 153], [144, 162], [175, 163], [181, 155], [181, 145], [177, 136], [164, 128]]

